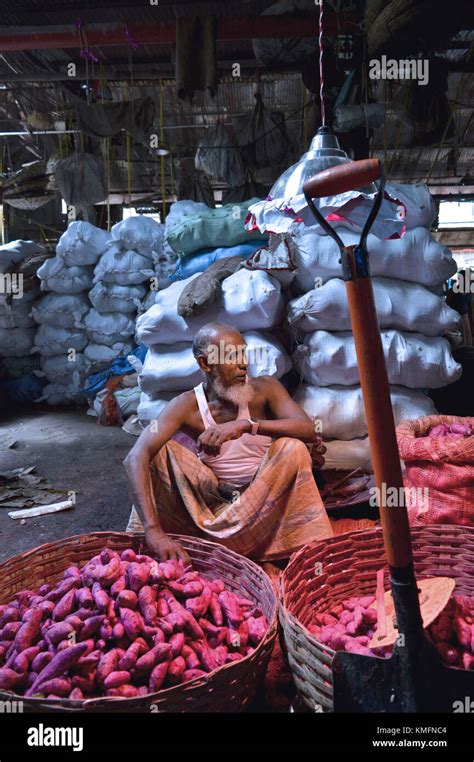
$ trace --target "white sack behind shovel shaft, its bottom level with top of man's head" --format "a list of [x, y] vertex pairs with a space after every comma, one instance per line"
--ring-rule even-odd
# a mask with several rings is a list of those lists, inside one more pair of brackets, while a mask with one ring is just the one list
[[[381, 328], [439, 336], [459, 323], [459, 313], [424, 286], [390, 278], [374, 278], [372, 283]], [[344, 281], [333, 278], [293, 299], [288, 305], [288, 321], [304, 333], [349, 331], [351, 321]]]

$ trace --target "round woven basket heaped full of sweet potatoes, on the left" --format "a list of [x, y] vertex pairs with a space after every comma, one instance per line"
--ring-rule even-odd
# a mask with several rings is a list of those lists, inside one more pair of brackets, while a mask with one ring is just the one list
[[[206, 677], [147, 696], [84, 701], [22, 698], [24, 711], [241, 712], [248, 707], [265, 676], [276, 637], [276, 596], [270, 579], [255, 563], [222, 545], [182, 535], [172, 537], [186, 548], [194, 569], [210, 578], [220, 577], [228, 589], [250, 598], [262, 609], [270, 626], [255, 651]], [[68, 566], [81, 566], [104, 547], [147, 552], [143, 535], [126, 532], [94, 532], [41, 545], [0, 564], [0, 603], [11, 600], [19, 590], [37, 589], [45, 582], [59, 580]], [[11, 693], [0, 691], [0, 699], [11, 698]]]

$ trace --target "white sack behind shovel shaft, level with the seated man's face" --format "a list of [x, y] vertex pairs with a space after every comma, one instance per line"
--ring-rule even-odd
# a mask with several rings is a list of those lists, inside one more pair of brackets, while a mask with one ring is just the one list
[[[446, 339], [399, 331], [382, 331], [381, 336], [391, 384], [410, 389], [437, 389], [461, 377], [462, 366], [454, 360]], [[307, 334], [293, 358], [309, 384], [359, 384], [354, 337], [350, 331]]]

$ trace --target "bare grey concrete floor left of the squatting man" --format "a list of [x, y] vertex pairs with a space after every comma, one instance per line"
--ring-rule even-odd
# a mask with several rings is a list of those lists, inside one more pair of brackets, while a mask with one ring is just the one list
[[[74, 490], [71, 511], [27, 519], [21, 524], [0, 509], [0, 561], [74, 534], [123, 531], [130, 513], [122, 460], [136, 437], [119, 427], [99, 426], [85, 408], [34, 408], [2, 416], [0, 440], [16, 447], [0, 450], [0, 470], [36, 466], [52, 487]], [[51, 502], [60, 496], [52, 496]]]

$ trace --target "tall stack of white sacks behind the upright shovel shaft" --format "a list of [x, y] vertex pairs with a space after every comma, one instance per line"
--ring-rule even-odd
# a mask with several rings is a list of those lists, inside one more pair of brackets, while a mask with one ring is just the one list
[[[423, 185], [387, 186], [404, 208], [402, 238], [369, 235], [367, 246], [395, 423], [435, 413], [425, 390], [453, 383], [461, 366], [443, 335], [459, 320], [440, 294], [456, 272], [451, 252], [429, 233], [435, 209]], [[340, 253], [318, 227], [284, 235], [296, 264], [300, 296], [288, 320], [301, 342], [294, 354], [302, 384], [295, 399], [317, 419], [327, 446], [326, 468], [370, 468], [367, 423]], [[359, 235], [338, 228], [346, 245]], [[281, 240], [275, 236], [272, 245]]]

